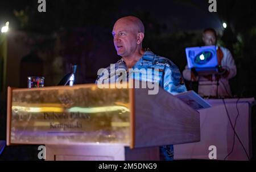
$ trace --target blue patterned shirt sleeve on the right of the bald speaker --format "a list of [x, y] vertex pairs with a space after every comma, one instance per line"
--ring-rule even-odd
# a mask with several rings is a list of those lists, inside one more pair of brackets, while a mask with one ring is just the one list
[[166, 65], [163, 77], [164, 90], [174, 95], [187, 91], [179, 68], [174, 63]]

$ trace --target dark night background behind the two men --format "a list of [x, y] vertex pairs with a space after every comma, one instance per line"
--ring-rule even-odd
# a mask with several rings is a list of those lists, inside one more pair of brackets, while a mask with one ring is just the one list
[[[203, 29], [216, 29], [218, 44], [232, 52], [237, 65], [237, 76], [230, 80], [233, 94], [256, 97], [256, 2], [253, 0], [217, 0], [217, 12], [208, 11], [208, 0], [48, 0], [46, 12], [38, 12], [38, 5], [37, 0], [0, 2], [0, 25], [10, 21], [10, 32], [26, 33], [30, 47], [30, 53], [19, 62], [19, 85], [8, 86], [26, 87], [26, 76], [40, 72], [46, 78], [46, 86], [56, 85], [69, 72], [70, 63], [78, 65], [76, 84], [94, 83], [99, 68], [120, 58], [113, 46], [114, 22], [122, 16], [134, 15], [145, 25], [143, 47], [170, 58], [180, 71], [186, 65], [184, 48], [203, 45]], [[226, 29], [222, 27], [223, 22], [228, 25]], [[29, 66], [35, 63], [39, 67], [32, 71]], [[22, 66], [28, 66], [27, 70]], [[186, 84], [189, 89], [196, 88], [196, 85]], [[1, 97], [0, 112], [0, 140], [5, 140], [5, 97]], [[254, 116], [255, 108], [253, 135]], [[36, 160], [37, 154], [32, 153], [34, 149], [30, 146], [9, 147], [5, 150], [9, 153], [3, 153], [0, 160], [3, 156], [5, 159]], [[255, 149], [253, 151], [254, 159]]]

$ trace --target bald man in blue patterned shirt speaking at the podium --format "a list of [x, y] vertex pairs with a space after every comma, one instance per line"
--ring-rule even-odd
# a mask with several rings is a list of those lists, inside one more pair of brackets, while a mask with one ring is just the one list
[[[123, 78], [127, 81], [135, 79], [152, 82], [152, 78], [154, 78], [154, 83], [158, 83], [160, 87], [171, 94], [187, 91], [179, 68], [170, 59], [156, 55], [150, 49], [142, 48], [144, 25], [140, 19], [134, 16], [118, 19], [114, 24], [112, 35], [115, 50], [122, 58], [117, 63], [98, 72], [97, 84], [117, 81], [120, 77], [117, 71], [122, 70], [127, 74], [125, 75], [126, 78]], [[153, 76], [148, 77], [146, 74], [134, 75], [135, 72], [130, 72], [142, 71], [141, 69], [145, 69], [144, 71], [147, 69], [158, 70], [159, 76], [155, 78]], [[173, 159], [172, 145], [160, 147], [160, 152], [162, 160]]]

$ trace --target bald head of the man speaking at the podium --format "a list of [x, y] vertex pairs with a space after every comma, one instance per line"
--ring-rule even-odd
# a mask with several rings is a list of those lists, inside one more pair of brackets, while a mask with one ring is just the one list
[[126, 16], [115, 22], [112, 35], [117, 54], [122, 57], [130, 57], [142, 49], [144, 25], [140, 19]]

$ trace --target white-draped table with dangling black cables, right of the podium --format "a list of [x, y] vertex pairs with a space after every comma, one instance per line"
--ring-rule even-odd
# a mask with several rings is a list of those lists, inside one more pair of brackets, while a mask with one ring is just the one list
[[[251, 148], [251, 103], [254, 98], [237, 98], [207, 100], [212, 108], [200, 110], [200, 133], [201, 141], [197, 143], [174, 145], [174, 159], [206, 159], [209, 160], [210, 145], [216, 146], [217, 160], [224, 160], [224, 158], [232, 150], [234, 131], [229, 122], [228, 114], [233, 123], [235, 123], [238, 111], [239, 115], [235, 131], [242, 141], [249, 157], [252, 156]], [[237, 111], [237, 108], [238, 111]], [[212, 149], [211, 149], [212, 150]], [[233, 152], [226, 158], [226, 160], [248, 160], [241, 143], [235, 136]]]

